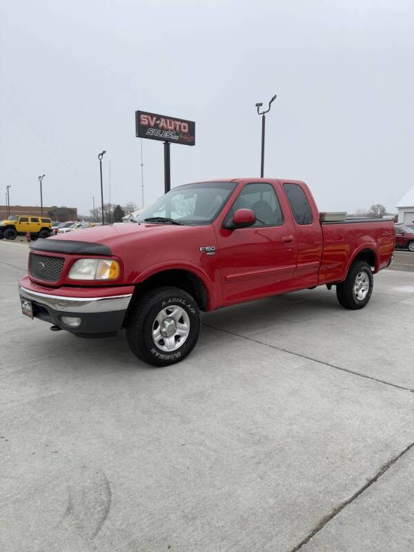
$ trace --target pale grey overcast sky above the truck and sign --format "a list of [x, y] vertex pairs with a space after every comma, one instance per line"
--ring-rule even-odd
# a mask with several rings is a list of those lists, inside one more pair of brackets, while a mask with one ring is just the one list
[[[397, 201], [413, 186], [412, 0], [28, 0], [1, 3], [0, 204], [141, 205], [135, 110], [196, 121], [171, 146], [172, 186], [301, 179], [321, 210]], [[144, 140], [145, 205], [164, 193]]]

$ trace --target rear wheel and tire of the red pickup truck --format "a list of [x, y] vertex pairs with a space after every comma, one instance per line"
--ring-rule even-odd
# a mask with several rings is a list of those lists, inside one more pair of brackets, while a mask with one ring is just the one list
[[337, 299], [345, 308], [364, 308], [373, 293], [373, 273], [365, 261], [351, 264], [344, 282], [337, 284]]

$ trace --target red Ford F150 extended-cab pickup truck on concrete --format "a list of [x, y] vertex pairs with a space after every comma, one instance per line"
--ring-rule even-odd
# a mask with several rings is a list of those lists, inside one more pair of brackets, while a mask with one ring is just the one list
[[321, 285], [362, 308], [391, 263], [393, 222], [323, 218], [301, 181], [179, 186], [137, 224], [31, 244], [22, 311], [80, 337], [126, 328], [133, 353], [164, 366], [195, 346], [200, 311]]

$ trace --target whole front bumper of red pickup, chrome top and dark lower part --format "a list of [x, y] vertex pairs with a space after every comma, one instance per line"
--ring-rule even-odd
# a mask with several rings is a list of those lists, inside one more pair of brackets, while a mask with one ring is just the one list
[[[130, 293], [115, 295], [119, 288], [100, 288], [99, 296], [76, 297], [72, 296], [76, 292], [73, 289], [71, 295], [52, 295], [30, 289], [25, 283], [19, 283], [19, 295], [31, 305], [32, 316], [79, 337], [105, 337], [119, 331], [124, 326], [133, 291], [133, 286], [123, 286], [121, 290]], [[61, 289], [57, 292], [61, 293]]]

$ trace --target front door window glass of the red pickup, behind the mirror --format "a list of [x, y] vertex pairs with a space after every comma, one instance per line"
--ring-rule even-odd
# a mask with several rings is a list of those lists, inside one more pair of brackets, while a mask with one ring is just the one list
[[251, 209], [256, 215], [257, 226], [282, 226], [284, 217], [275, 188], [271, 184], [246, 184], [237, 196], [228, 217], [233, 217], [237, 209]]

